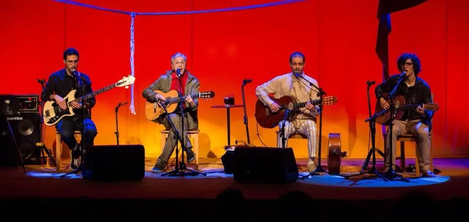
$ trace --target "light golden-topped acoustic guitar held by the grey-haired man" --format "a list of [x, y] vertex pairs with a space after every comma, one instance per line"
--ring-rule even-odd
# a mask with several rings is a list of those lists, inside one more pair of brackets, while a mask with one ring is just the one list
[[[162, 92], [159, 90], [155, 90], [153, 92], [156, 92], [165, 98], [164, 104], [166, 105], [166, 110], [168, 111], [168, 113], [171, 113], [174, 110], [176, 110], [178, 103], [181, 100], [186, 100], [188, 96], [188, 95], [178, 96], [178, 93], [175, 90], [171, 90], [170, 92]], [[208, 99], [208, 98], [213, 98], [214, 96], [215, 96], [215, 92], [213, 91], [191, 94], [191, 97], [194, 99], [196, 98]], [[145, 103], [145, 116], [147, 117], [148, 120], [155, 120], [163, 113], [165, 113], [165, 110], [163, 109], [163, 107], [159, 105], [159, 103], [149, 102], [149, 101]]]

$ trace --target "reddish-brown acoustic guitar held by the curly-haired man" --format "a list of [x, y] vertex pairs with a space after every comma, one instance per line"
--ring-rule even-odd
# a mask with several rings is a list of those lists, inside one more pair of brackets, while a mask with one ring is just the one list
[[[388, 97], [388, 93], [384, 93], [383, 95], [384, 95], [384, 98]], [[386, 99], [386, 101], [389, 103], [390, 99]], [[410, 99], [405, 98], [403, 95], [397, 95], [394, 102], [396, 105], [399, 105], [397, 107], [396, 115], [394, 116], [394, 119], [397, 119], [397, 120], [401, 120], [403, 117], [408, 116], [409, 112], [411, 110], [416, 110], [418, 106], [422, 106], [424, 110], [429, 110], [429, 111], [437, 111], [440, 108], [438, 104], [436, 103], [410, 104]], [[381, 108], [380, 100], [377, 100], [375, 113], [380, 113], [381, 111], [384, 111], [384, 110]], [[382, 114], [376, 117], [376, 123], [381, 124], [381, 125], [387, 125], [390, 119], [391, 119], [391, 110], [388, 108], [386, 111], [384, 111]]]

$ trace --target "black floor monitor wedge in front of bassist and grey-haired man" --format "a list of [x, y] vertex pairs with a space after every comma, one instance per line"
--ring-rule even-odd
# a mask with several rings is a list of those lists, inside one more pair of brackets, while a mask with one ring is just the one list
[[145, 148], [142, 145], [85, 148], [82, 176], [92, 181], [141, 180], [145, 177]]

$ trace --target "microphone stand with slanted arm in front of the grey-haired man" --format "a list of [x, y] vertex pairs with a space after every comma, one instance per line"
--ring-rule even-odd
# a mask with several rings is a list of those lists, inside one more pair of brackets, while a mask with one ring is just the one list
[[[187, 150], [187, 147], [186, 147], [186, 144], [184, 143], [184, 140], [182, 139], [182, 136], [181, 135], [184, 135], [184, 102], [185, 102], [185, 99], [184, 97], [182, 96], [182, 87], [181, 87], [181, 75], [178, 74], [178, 81], [179, 81], [179, 90], [180, 92], [177, 92], [178, 94], [178, 97], [180, 98], [180, 101], [179, 101], [179, 107], [181, 109], [181, 133], [179, 133], [176, 129], [176, 126], [174, 126], [174, 123], [171, 121], [171, 118], [170, 118], [170, 113], [168, 113], [168, 110], [166, 109], [166, 104], [160, 104], [161, 107], [163, 107], [163, 109], [165, 110], [166, 112], [166, 118], [168, 119], [168, 121], [170, 122], [171, 124], [171, 127], [172, 129], [174, 130], [174, 135], [176, 136], [176, 139], [177, 141], [180, 141], [181, 142], [181, 159], [182, 161], [179, 163], [181, 166], [178, 167], [178, 148], [177, 148], [177, 141], [176, 141], [176, 166], [174, 168], [174, 170], [170, 171], [170, 172], [167, 172], [167, 173], [163, 173], [161, 174], [162, 177], [166, 176], [166, 175], [170, 175], [170, 176], [185, 176], [185, 175], [197, 175], [197, 174], [202, 174], [204, 176], [207, 176], [206, 173], [202, 173], [202, 172], [199, 172], [199, 171], [196, 171], [196, 170], [193, 170], [193, 169], [188, 169], [187, 166], [184, 164], [184, 151]], [[189, 170], [190, 172], [184, 172], [184, 170]]]

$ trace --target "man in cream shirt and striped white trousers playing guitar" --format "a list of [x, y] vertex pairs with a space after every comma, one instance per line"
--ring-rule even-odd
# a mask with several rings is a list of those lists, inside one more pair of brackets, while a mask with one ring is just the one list
[[[291, 73], [279, 75], [266, 83], [256, 87], [256, 96], [259, 101], [262, 101], [265, 106], [268, 106], [272, 112], [277, 112], [281, 108], [275, 101], [269, 98], [269, 93], [274, 93], [275, 98], [283, 96], [291, 96], [296, 102], [306, 102], [305, 107], [301, 108], [293, 114], [293, 118], [285, 121], [284, 134], [285, 134], [285, 147], [287, 147], [288, 137], [299, 132], [308, 137], [308, 165], [307, 169], [312, 172], [316, 169], [315, 157], [317, 144], [317, 127], [316, 116], [319, 107], [312, 105], [309, 101], [320, 99], [316, 88], [310, 87], [309, 83], [297, 75], [302, 75], [308, 81], [318, 86], [316, 79], [304, 74], [304, 55], [295, 52], [290, 56]], [[297, 74], [297, 75], [296, 75]], [[305, 85], [306, 84], [306, 85]], [[283, 121], [278, 123], [279, 129], [282, 128]], [[282, 138], [277, 137], [277, 147], [282, 147]]]

